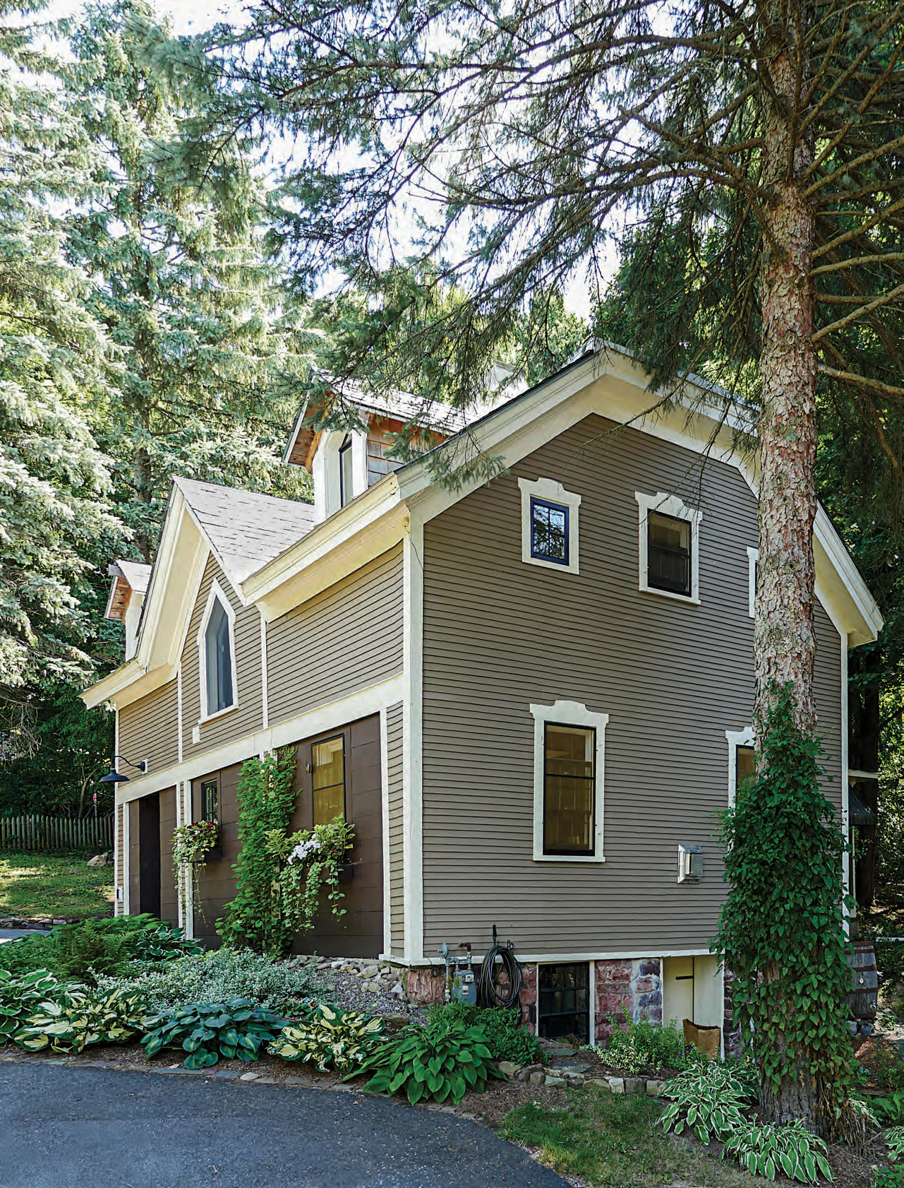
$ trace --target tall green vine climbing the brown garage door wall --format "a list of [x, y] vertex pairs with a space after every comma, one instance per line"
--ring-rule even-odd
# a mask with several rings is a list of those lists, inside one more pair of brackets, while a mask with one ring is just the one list
[[292, 934], [281, 914], [279, 853], [273, 830], [288, 829], [295, 810], [295, 752], [286, 747], [263, 759], [247, 759], [238, 781], [238, 858], [236, 896], [227, 904], [217, 931], [231, 948], [281, 956]]

